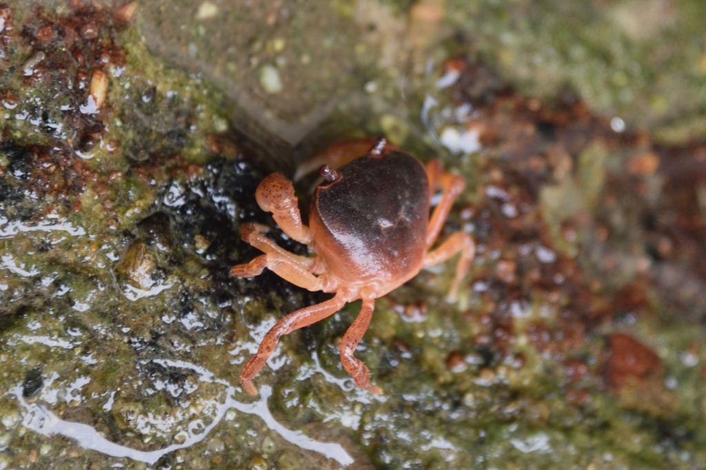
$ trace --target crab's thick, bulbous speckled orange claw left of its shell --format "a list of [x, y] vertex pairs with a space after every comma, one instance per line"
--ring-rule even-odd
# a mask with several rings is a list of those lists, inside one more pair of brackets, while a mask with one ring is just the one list
[[294, 186], [281, 173], [265, 176], [255, 191], [258, 205], [265, 212], [272, 212], [277, 225], [289, 238], [299, 243], [311, 243], [309, 227], [301, 222], [301, 213]]

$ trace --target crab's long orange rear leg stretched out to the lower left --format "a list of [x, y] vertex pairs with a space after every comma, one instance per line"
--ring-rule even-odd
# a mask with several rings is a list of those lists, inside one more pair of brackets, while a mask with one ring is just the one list
[[241, 370], [240, 382], [245, 391], [251, 395], [257, 394], [258, 390], [253, 385], [253, 377], [255, 377], [258, 371], [265, 365], [268, 358], [275, 352], [277, 343], [280, 342], [282, 336], [333, 315], [339, 311], [345, 303], [345, 295], [337, 293], [333, 299], [317, 303], [310, 307], [301, 308], [300, 310], [289, 313], [286, 317], [280, 318], [280, 320], [275, 323], [275, 326], [267, 332], [267, 335], [265, 335], [260, 343], [258, 351], [245, 363], [243, 370]]

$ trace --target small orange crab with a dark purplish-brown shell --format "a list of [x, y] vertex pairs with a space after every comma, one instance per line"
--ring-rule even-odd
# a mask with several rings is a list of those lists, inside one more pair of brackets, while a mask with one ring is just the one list
[[[360, 147], [361, 141], [337, 145], [312, 161], [340, 161]], [[462, 176], [443, 171], [438, 160], [423, 165], [381, 138], [366, 155], [339, 169], [325, 164], [319, 172], [323, 182], [313, 193], [308, 227], [301, 220], [294, 187], [283, 174], [265, 177], [255, 193], [261, 209], [272, 212], [280, 229], [304, 243], [313, 257], [281, 248], [265, 236], [261, 225], [241, 225], [241, 238], [264, 254], [232, 267], [232, 275], [253, 277], [267, 267], [299, 287], [334, 294], [280, 318], [268, 331], [240, 373], [240, 382], [249, 394], [257, 394], [253, 378], [282, 336], [321, 321], [358, 299], [362, 307], [341, 339], [340, 361], [358, 387], [381, 393], [371, 383], [368, 368], [354, 356], [373, 315], [375, 299], [405, 284], [424, 267], [460, 253], [449, 290], [453, 300], [474, 256], [474, 241], [460, 231], [432, 249], [465, 186]], [[442, 191], [441, 199], [430, 217], [431, 199], [437, 190]]]

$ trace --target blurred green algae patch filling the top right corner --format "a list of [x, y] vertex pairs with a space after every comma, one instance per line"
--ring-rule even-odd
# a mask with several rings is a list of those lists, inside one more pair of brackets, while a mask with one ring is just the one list
[[530, 95], [553, 100], [569, 87], [666, 143], [706, 135], [700, 2], [447, 3], [447, 21]]

